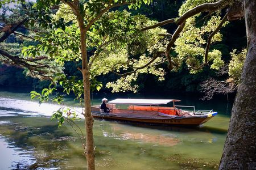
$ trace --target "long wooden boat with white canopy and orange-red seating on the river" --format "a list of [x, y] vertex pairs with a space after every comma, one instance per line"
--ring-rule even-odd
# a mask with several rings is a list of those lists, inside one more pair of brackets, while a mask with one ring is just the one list
[[[158, 125], [201, 125], [210, 120], [217, 112], [197, 111], [195, 107], [175, 105], [176, 99], [115, 99], [109, 101], [108, 108], [112, 112], [104, 113], [100, 105], [92, 106], [92, 116], [108, 120], [143, 122]], [[173, 102], [173, 107], [159, 105]], [[129, 105], [127, 109], [119, 109], [117, 105]], [[184, 111], [182, 107], [191, 107], [193, 111]]]

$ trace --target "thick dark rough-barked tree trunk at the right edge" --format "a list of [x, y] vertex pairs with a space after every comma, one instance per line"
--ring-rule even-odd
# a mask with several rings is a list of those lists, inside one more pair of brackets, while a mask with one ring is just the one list
[[220, 169], [256, 169], [256, 0], [244, 0], [247, 54]]

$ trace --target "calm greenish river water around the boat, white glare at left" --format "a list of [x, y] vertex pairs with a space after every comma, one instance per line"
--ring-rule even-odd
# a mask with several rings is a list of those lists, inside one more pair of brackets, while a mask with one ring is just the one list
[[[217, 169], [231, 104], [227, 106], [221, 99], [206, 103], [188, 96], [165, 98], [181, 99], [182, 105], [196, 105], [197, 109], [214, 109], [218, 115], [199, 128], [96, 120], [96, 169]], [[0, 91], [0, 152], [9, 155], [0, 158], [0, 169], [17, 165], [20, 169], [85, 168], [77, 135], [70, 126], [58, 129], [56, 121], [49, 119], [58, 106], [39, 107], [28, 99], [27, 93]], [[78, 124], [83, 128], [82, 120]]]

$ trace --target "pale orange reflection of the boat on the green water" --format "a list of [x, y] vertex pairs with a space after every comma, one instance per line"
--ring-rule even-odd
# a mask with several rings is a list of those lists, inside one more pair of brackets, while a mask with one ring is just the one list
[[[123, 124], [119, 122], [101, 121], [104, 137], [118, 140], [133, 140], [137, 142], [153, 143], [154, 145], [176, 146], [184, 142], [214, 143], [218, 141], [218, 134], [203, 129], [199, 131], [179, 126], [151, 126], [143, 124]], [[109, 126], [109, 127], [107, 127]], [[157, 129], [156, 129], [157, 128]]]

